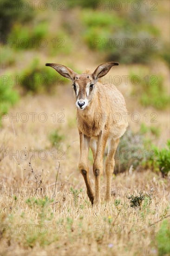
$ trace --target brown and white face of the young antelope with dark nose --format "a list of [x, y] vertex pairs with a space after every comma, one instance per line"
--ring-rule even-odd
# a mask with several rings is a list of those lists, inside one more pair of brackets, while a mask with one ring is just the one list
[[72, 88], [76, 97], [78, 109], [85, 109], [92, 100], [94, 92], [94, 80], [90, 74], [76, 75]]

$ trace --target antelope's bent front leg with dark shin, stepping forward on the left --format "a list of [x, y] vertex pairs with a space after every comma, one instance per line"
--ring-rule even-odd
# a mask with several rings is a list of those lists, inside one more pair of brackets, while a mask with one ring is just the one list
[[79, 171], [83, 175], [87, 188], [87, 195], [93, 204], [94, 195], [92, 192], [91, 182], [89, 180], [88, 153], [90, 146], [90, 138], [79, 131], [80, 135], [80, 161], [78, 164]]

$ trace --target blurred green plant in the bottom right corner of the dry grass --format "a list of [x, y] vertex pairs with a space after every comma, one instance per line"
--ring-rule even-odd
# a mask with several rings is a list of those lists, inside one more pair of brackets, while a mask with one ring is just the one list
[[156, 236], [159, 256], [170, 255], [170, 225], [168, 220], [163, 220]]

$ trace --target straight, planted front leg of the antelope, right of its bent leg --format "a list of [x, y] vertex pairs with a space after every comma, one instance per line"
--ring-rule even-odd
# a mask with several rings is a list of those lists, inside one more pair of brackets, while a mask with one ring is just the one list
[[100, 203], [100, 176], [103, 173], [103, 156], [104, 156], [104, 150], [106, 141], [108, 138], [108, 133], [106, 131], [100, 133], [98, 136], [98, 143], [97, 143], [97, 151], [96, 151], [96, 157], [93, 163], [93, 174], [95, 178], [95, 198], [94, 198], [94, 204]]

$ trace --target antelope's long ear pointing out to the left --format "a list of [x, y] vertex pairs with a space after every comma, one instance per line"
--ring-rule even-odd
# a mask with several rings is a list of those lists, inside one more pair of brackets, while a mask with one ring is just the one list
[[70, 67], [65, 67], [57, 63], [46, 63], [46, 66], [53, 67], [59, 74], [72, 81], [75, 80], [75, 76], [77, 75]]

